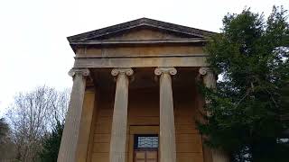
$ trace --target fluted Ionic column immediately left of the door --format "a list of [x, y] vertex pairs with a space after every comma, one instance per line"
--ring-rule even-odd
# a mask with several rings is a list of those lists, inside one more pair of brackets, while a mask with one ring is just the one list
[[134, 71], [131, 68], [114, 68], [111, 71], [112, 76], [117, 76], [117, 88], [111, 128], [110, 162], [126, 162], [126, 124], [129, 84], [127, 76], [132, 76], [133, 73]]

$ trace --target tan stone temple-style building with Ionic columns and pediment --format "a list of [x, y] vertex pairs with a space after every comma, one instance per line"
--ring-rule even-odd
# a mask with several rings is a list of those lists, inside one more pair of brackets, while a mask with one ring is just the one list
[[[68, 38], [73, 86], [59, 162], [225, 162], [202, 144], [196, 78], [211, 31], [141, 18]], [[200, 119], [201, 120], [201, 119]]]

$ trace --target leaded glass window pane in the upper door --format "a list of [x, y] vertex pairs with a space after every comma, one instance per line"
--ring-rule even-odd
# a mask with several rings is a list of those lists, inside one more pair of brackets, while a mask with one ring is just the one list
[[135, 148], [158, 148], [159, 137], [157, 135], [135, 135]]

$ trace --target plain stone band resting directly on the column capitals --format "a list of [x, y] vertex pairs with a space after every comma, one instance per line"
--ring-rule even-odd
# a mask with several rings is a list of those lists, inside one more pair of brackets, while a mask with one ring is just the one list
[[207, 55], [75, 57], [74, 67], [207, 67]]

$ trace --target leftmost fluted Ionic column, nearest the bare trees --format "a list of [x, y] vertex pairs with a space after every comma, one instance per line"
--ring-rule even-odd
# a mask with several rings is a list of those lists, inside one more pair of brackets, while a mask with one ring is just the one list
[[57, 159], [58, 162], [77, 161], [76, 155], [79, 142], [79, 126], [86, 86], [86, 76], [89, 76], [89, 69], [71, 69], [69, 75], [73, 77], [73, 85], [70, 94], [69, 110], [65, 118], [65, 126], [61, 138], [61, 148]]

